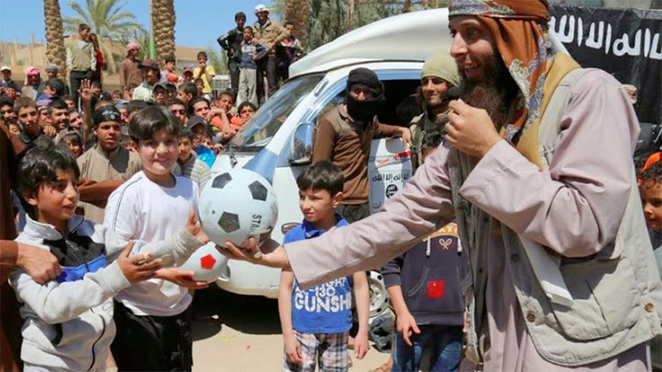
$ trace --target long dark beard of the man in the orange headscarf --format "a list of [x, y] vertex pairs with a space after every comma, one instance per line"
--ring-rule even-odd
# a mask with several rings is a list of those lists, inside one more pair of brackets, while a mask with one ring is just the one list
[[485, 63], [485, 78], [480, 83], [470, 81], [461, 71], [464, 81], [462, 101], [472, 107], [478, 107], [488, 112], [497, 129], [506, 124], [512, 101], [519, 92], [508, 68], [501, 56], [495, 54]]

